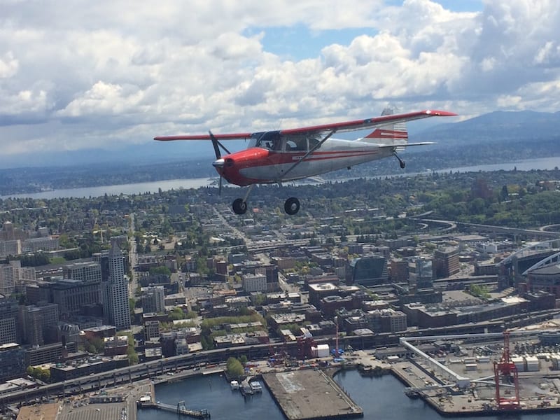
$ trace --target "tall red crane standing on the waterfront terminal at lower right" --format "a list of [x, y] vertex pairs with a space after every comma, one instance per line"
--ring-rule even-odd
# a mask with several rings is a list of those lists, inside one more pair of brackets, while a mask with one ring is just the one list
[[[496, 404], [499, 409], [519, 409], [519, 378], [517, 366], [510, 358], [510, 332], [503, 332], [503, 353], [499, 362], [494, 362], [494, 381], [496, 382]], [[507, 388], [504, 386], [507, 385]], [[505, 388], [504, 396], [500, 386]], [[513, 386], [512, 395], [510, 388]]]

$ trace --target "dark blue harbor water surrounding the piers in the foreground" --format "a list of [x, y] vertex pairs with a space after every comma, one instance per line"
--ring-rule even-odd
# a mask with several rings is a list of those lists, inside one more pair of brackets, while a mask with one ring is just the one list
[[[339, 372], [336, 381], [346, 393], [363, 408], [365, 420], [433, 420], [445, 419], [437, 414], [423, 400], [411, 399], [405, 395], [405, 386], [391, 375], [379, 378], [361, 377], [356, 370]], [[239, 391], [231, 391], [223, 376], [196, 377], [174, 384], [155, 387], [155, 395], [161, 402], [176, 405], [185, 401], [188, 408], [208, 409], [212, 420], [266, 419], [281, 420], [284, 416], [263, 385], [262, 394], [243, 398]], [[475, 420], [481, 417], [461, 417]], [[519, 420], [558, 419], [557, 413], [515, 415]], [[138, 420], [176, 420], [174, 413], [157, 409], [139, 410]], [[484, 419], [501, 419], [499, 416]]]

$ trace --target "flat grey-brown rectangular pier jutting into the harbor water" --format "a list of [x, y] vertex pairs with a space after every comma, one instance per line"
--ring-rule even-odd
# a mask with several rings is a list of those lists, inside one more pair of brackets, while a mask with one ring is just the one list
[[363, 417], [363, 409], [322, 370], [270, 372], [262, 379], [288, 420]]

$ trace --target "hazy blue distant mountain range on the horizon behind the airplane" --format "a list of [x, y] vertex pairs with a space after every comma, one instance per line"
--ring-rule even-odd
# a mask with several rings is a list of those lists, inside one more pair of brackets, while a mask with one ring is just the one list
[[[469, 144], [489, 144], [506, 140], [559, 139], [560, 112], [496, 111], [459, 123], [435, 125], [411, 136], [413, 141], [436, 141], [437, 148]], [[235, 144], [237, 143], [237, 144]], [[244, 141], [228, 143], [231, 150], [246, 146]], [[556, 154], [560, 153], [559, 150]], [[553, 153], [554, 154], [554, 153]], [[200, 160], [214, 157], [212, 148], [202, 142], [171, 141], [165, 144], [150, 141], [146, 144], [115, 148], [83, 149], [65, 153], [28, 153], [25, 155], [0, 155], [0, 168], [7, 167], [59, 167], [99, 164], [139, 164]]]

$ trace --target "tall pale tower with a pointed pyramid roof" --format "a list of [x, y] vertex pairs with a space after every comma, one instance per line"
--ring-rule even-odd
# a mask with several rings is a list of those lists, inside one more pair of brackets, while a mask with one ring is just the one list
[[130, 328], [128, 279], [125, 276], [125, 257], [113, 241], [109, 251], [109, 280], [106, 282], [106, 302], [109, 323], [117, 328]]

